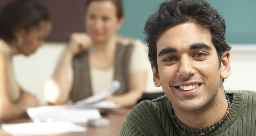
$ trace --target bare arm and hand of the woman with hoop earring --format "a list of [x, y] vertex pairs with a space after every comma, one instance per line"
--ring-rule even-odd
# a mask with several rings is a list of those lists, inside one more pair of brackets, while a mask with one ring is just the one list
[[0, 51], [0, 120], [9, 120], [25, 115], [27, 107], [38, 106], [35, 96], [23, 92], [17, 102], [12, 102], [8, 93], [7, 60]]

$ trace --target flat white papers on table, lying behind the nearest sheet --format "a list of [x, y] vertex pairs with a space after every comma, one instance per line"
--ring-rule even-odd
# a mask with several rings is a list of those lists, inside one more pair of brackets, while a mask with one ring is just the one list
[[73, 108], [72, 106], [39, 106], [28, 108], [27, 113], [33, 122], [86, 123], [89, 119], [101, 118], [98, 109]]

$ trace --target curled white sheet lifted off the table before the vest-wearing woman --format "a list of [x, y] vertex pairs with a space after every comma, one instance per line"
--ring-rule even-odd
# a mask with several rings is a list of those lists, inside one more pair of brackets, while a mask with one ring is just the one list
[[91, 103], [96, 103], [99, 102], [103, 99], [105, 99], [106, 97], [114, 94], [114, 92], [116, 92], [118, 89], [120, 88], [120, 82], [117, 80], [114, 80], [112, 82], [112, 84], [106, 88], [105, 90], [103, 90], [101, 93], [97, 94], [97, 95], [93, 95], [91, 97], [88, 97], [86, 99], [80, 100], [75, 102], [75, 105], [84, 105], [84, 104], [91, 104]]

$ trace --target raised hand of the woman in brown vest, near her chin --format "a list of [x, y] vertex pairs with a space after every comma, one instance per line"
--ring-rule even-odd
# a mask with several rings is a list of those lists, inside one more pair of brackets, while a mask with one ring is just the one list
[[67, 51], [75, 56], [79, 52], [91, 47], [93, 40], [87, 33], [72, 33], [68, 43]]

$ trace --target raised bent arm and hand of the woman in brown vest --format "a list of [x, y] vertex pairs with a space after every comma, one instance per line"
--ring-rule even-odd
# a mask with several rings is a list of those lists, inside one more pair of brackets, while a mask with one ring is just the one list
[[73, 57], [91, 46], [92, 40], [86, 33], [74, 33], [62, 55], [53, 76], [46, 81], [44, 98], [51, 104], [65, 103], [73, 86]]

